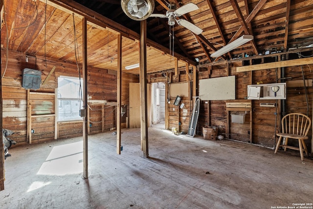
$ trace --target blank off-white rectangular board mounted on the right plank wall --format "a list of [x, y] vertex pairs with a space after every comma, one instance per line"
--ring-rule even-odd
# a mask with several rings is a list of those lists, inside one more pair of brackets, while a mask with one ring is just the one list
[[235, 76], [209, 78], [199, 80], [199, 96], [201, 100], [236, 99]]

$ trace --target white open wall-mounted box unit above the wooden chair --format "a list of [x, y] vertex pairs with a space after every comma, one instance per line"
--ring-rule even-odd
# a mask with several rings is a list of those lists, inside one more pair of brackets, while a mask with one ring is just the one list
[[247, 90], [248, 99], [286, 99], [286, 83], [248, 85]]

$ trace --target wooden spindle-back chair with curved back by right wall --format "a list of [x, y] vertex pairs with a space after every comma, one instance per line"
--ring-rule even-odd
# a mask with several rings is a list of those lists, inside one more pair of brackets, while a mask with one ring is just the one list
[[[290, 113], [282, 118], [282, 133], [276, 134], [279, 139], [276, 144], [275, 154], [279, 147], [284, 147], [285, 151], [294, 149], [300, 151], [301, 161], [303, 161], [303, 152], [308, 156], [308, 149], [304, 140], [309, 139], [308, 132], [311, 127], [311, 119], [301, 113]], [[282, 138], [285, 138], [285, 144], [280, 144]], [[288, 146], [288, 139], [298, 139], [299, 148]]]

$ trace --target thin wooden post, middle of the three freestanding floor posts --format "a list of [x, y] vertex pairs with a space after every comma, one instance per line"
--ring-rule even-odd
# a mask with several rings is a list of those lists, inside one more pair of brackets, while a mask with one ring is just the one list
[[116, 153], [121, 154], [122, 35], [117, 36]]

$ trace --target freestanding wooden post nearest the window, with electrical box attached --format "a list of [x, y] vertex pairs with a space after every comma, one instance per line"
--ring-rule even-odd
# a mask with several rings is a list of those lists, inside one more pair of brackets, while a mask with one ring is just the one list
[[[83, 18], [83, 80], [84, 80], [84, 88], [83, 88], [83, 97], [84, 97], [84, 110], [87, 115], [88, 108], [88, 84], [87, 84], [87, 20]], [[88, 117], [83, 117], [83, 163], [84, 163], [84, 172], [83, 177], [88, 179]]]

